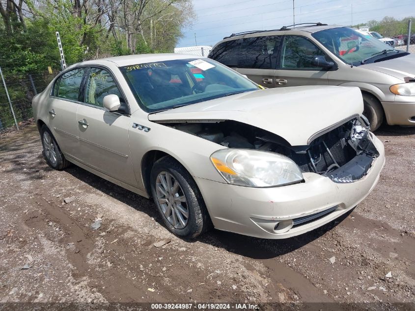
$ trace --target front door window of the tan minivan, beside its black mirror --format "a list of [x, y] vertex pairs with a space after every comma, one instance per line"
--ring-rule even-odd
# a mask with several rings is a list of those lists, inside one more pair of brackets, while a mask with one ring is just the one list
[[311, 64], [311, 60], [316, 56], [325, 54], [310, 40], [300, 36], [286, 36], [281, 50], [280, 68], [316, 68]]

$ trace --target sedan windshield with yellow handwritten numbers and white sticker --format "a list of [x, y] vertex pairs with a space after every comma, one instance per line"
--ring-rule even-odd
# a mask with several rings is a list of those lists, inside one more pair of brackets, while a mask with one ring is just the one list
[[208, 58], [132, 64], [120, 70], [141, 108], [149, 113], [259, 89]]

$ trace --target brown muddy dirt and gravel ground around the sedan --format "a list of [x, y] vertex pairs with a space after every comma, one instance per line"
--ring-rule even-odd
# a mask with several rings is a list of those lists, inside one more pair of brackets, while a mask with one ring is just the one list
[[185, 241], [151, 200], [74, 165], [49, 168], [34, 125], [3, 134], [0, 302], [414, 304], [415, 128], [376, 135], [380, 181], [343, 218], [286, 240], [212, 230]]

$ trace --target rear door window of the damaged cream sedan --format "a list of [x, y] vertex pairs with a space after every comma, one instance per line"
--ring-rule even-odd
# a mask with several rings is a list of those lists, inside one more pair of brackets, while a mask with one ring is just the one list
[[78, 68], [65, 72], [60, 79], [55, 82], [54, 95], [60, 98], [79, 100], [79, 89], [81, 86], [83, 72], [85, 68]]

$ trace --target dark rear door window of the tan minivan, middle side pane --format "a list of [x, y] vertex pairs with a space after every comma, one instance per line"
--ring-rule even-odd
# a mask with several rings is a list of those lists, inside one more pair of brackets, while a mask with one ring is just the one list
[[281, 36], [243, 39], [238, 68], [275, 69], [280, 40]]

